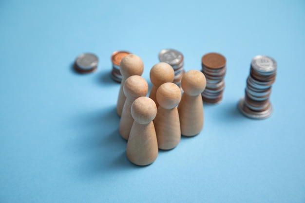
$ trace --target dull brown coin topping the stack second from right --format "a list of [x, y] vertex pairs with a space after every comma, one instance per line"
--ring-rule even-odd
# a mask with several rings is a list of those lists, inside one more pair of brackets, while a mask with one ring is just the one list
[[219, 69], [226, 66], [225, 56], [218, 53], [208, 53], [201, 58], [202, 65], [208, 69]]

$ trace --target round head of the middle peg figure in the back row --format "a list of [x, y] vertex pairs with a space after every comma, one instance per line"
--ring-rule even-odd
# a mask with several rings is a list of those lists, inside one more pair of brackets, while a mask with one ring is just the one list
[[172, 66], [164, 62], [155, 64], [150, 72], [152, 84], [156, 87], [159, 87], [166, 82], [172, 82], [174, 76], [175, 73]]

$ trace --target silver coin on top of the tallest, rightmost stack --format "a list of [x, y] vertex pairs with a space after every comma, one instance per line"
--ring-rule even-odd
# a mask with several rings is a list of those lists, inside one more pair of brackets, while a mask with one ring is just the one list
[[254, 56], [251, 67], [259, 73], [274, 73], [277, 69], [276, 61], [267, 55]]

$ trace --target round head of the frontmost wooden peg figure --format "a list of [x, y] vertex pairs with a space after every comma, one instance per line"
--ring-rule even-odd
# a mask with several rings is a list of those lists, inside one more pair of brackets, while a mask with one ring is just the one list
[[137, 123], [149, 124], [156, 117], [157, 106], [151, 98], [141, 96], [134, 100], [131, 113]]

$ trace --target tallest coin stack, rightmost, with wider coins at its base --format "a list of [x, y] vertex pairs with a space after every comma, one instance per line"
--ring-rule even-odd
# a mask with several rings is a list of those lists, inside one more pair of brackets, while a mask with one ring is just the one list
[[276, 61], [269, 56], [257, 55], [252, 59], [246, 95], [238, 103], [244, 115], [255, 119], [264, 119], [271, 115], [273, 110], [269, 97], [276, 69]]

